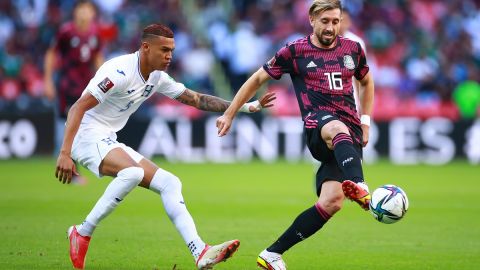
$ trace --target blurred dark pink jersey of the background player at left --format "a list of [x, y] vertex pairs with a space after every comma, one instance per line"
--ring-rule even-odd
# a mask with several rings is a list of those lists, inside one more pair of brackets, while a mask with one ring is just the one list
[[95, 57], [101, 51], [100, 36], [95, 25], [80, 32], [73, 23], [66, 23], [60, 28], [54, 46], [60, 58], [57, 86], [60, 112], [65, 116], [95, 75]]

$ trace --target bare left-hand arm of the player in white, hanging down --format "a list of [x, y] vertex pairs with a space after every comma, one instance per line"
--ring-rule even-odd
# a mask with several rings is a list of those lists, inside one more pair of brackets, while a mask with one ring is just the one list
[[75, 164], [70, 157], [72, 152], [72, 144], [77, 134], [80, 122], [86, 111], [95, 107], [98, 100], [90, 93], [82, 95], [68, 111], [67, 122], [65, 123], [65, 135], [63, 136], [63, 144], [57, 159], [57, 167], [55, 169], [55, 177], [63, 184], [69, 184], [72, 181], [72, 175], [77, 174]]

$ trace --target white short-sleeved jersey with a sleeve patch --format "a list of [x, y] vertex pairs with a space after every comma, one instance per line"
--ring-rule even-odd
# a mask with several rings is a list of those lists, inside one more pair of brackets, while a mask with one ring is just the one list
[[99, 104], [85, 112], [80, 129], [117, 132], [154, 92], [175, 99], [185, 91], [182, 83], [163, 71], [153, 71], [145, 81], [139, 64], [137, 51], [115, 57], [98, 69], [83, 94], [92, 94]]

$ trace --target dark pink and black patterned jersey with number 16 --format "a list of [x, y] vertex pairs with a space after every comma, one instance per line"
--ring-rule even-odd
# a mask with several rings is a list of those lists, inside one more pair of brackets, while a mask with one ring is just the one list
[[307, 36], [281, 48], [263, 68], [277, 80], [290, 74], [304, 121], [309, 113], [332, 113], [349, 127], [355, 141], [361, 142], [352, 76], [361, 80], [369, 67], [358, 42], [338, 36], [335, 47], [322, 49]]

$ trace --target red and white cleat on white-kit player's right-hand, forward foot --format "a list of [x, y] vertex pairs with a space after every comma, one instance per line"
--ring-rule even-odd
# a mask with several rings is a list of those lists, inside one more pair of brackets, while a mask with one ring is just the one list
[[212, 267], [222, 261], [232, 257], [240, 246], [240, 241], [230, 240], [225, 243], [209, 246], [206, 245], [197, 260], [198, 269], [212, 269]]

